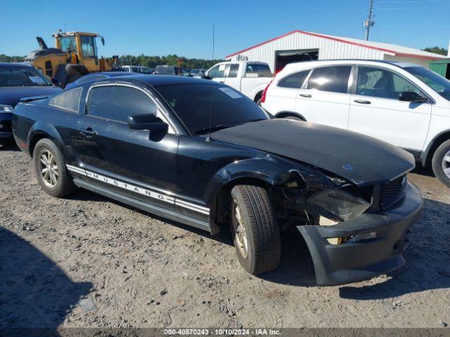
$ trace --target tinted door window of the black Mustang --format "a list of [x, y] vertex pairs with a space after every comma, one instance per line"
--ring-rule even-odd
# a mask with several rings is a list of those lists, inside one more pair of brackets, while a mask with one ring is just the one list
[[131, 114], [156, 113], [157, 106], [146, 93], [129, 86], [98, 86], [89, 93], [88, 114], [127, 122]]

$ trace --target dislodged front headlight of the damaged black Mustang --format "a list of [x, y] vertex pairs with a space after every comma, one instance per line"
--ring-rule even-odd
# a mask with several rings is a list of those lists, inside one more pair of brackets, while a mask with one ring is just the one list
[[319, 208], [335, 220], [346, 221], [364, 213], [370, 206], [366, 200], [342, 190], [324, 190], [313, 194], [307, 203]]

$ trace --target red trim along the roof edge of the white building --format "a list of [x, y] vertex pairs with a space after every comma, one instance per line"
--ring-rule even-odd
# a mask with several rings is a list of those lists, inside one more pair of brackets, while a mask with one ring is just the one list
[[360, 46], [360, 47], [364, 47], [364, 48], [375, 49], [377, 51], [383, 51], [385, 53], [391, 53], [394, 56], [403, 56], [403, 57], [406, 57], [406, 58], [421, 58], [421, 59], [425, 59], [425, 60], [437, 60], [439, 58], [446, 58], [446, 56], [444, 56], [444, 55], [433, 56], [433, 55], [419, 55], [419, 54], [414, 54], [414, 53], [403, 53], [403, 52], [395, 51], [394, 49], [380, 48], [378, 46], [371, 46], [370, 44], [359, 43], [359, 42], [357, 42], [358, 40], [350, 41], [350, 40], [346, 40], [345, 38], [332, 37], [330, 35], [317, 34], [317, 33], [311, 33], [311, 32], [304, 32], [304, 31], [299, 30], [299, 29], [295, 29], [292, 32], [288, 32], [286, 34], [280, 35], [279, 37], [274, 37], [274, 39], [270, 39], [270, 40], [264, 41], [264, 42], [262, 42], [260, 44], [256, 44], [255, 46], [251, 46], [249, 48], [245, 48], [242, 51], [238, 51], [236, 53], [228, 55], [225, 58], [231, 58], [231, 56], [234, 56], [234, 55], [237, 55], [237, 54], [240, 54], [240, 53], [244, 53], [245, 51], [250, 51], [250, 49], [257, 48], [257, 47], [262, 46], [264, 44], [268, 44], [271, 41], [275, 41], [275, 40], [281, 39], [283, 37], [287, 37], [288, 35], [295, 34], [295, 33], [310, 35], [312, 37], [321, 37], [323, 39], [330, 39], [330, 40], [333, 40], [333, 41], [342, 42], [344, 44], [352, 44], [354, 46]]

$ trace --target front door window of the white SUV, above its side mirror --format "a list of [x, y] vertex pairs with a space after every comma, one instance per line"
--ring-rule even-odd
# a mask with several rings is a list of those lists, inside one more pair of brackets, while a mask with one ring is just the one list
[[377, 67], [359, 67], [356, 95], [365, 95], [397, 100], [404, 91], [420, 90], [403, 77]]

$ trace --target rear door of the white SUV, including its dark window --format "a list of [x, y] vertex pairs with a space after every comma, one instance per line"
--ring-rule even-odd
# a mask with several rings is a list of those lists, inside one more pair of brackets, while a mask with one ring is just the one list
[[298, 91], [295, 110], [312, 123], [347, 128], [351, 65], [316, 67]]

